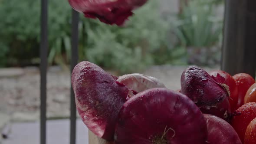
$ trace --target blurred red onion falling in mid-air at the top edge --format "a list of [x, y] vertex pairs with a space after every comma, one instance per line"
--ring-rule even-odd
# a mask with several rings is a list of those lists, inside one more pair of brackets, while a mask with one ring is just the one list
[[69, 0], [69, 4], [85, 17], [98, 18], [103, 23], [121, 26], [131, 16], [132, 10], [148, 0]]

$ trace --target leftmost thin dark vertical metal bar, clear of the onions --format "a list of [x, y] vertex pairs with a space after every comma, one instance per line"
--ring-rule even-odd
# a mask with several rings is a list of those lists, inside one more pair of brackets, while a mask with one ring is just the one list
[[48, 0], [41, 0], [40, 144], [46, 144], [46, 72], [48, 52]]

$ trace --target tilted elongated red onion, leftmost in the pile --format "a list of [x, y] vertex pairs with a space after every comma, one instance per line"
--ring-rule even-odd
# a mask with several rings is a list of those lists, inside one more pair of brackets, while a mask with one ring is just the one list
[[91, 62], [80, 62], [72, 72], [76, 108], [85, 125], [98, 137], [114, 139], [119, 110], [128, 89]]

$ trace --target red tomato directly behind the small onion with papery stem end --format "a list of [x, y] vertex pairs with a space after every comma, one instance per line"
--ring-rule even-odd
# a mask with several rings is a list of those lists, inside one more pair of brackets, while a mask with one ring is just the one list
[[[214, 70], [214, 71], [209, 72], [209, 74], [215, 78], [217, 78], [217, 75], [219, 74], [220, 76], [222, 76], [225, 79], [224, 83], [227, 86], [229, 86], [229, 90], [230, 90], [229, 102], [230, 102], [231, 112], [234, 112], [237, 109], [237, 108], [235, 109], [235, 107], [236, 107], [236, 103], [237, 103], [237, 99], [238, 99], [237, 98], [238, 90], [236, 87], [235, 80], [229, 73], [221, 71], [221, 70]], [[217, 82], [220, 82], [220, 81], [218, 81], [218, 79], [215, 79], [215, 80]], [[223, 82], [220, 82], [220, 83], [223, 83]]]

